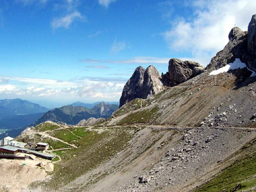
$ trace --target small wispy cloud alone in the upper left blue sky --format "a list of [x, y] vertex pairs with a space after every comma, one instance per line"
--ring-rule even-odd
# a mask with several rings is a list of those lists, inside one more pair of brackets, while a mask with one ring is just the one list
[[79, 11], [73, 11], [62, 18], [55, 18], [53, 19], [51, 25], [54, 29], [60, 27], [68, 28], [75, 20], [84, 20], [84, 17]]

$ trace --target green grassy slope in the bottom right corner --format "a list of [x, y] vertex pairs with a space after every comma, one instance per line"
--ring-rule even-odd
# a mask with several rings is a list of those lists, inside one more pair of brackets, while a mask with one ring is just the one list
[[[195, 191], [241, 191], [256, 186], [256, 139], [247, 143], [239, 158]], [[237, 188], [237, 189], [236, 189]]]

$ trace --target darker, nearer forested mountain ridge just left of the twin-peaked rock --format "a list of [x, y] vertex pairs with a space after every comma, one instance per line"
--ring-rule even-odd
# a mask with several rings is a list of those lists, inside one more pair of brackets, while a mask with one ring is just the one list
[[82, 104], [86, 105], [86, 103], [76, 102], [72, 105], [54, 108], [36, 120], [33, 126], [46, 122], [47, 120], [51, 120], [52, 122], [77, 124], [82, 119], [109, 118], [109, 116], [118, 109], [118, 105], [108, 105], [105, 102], [100, 102], [97, 105], [94, 105], [92, 108], [83, 107], [81, 106]]

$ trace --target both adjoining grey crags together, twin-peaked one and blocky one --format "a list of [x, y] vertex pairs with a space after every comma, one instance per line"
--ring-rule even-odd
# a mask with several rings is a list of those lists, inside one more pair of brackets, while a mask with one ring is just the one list
[[138, 66], [133, 76], [123, 87], [119, 107], [135, 98], [146, 99], [151, 97], [163, 91], [166, 86], [179, 85], [203, 71], [204, 67], [199, 63], [179, 59], [169, 61], [168, 72], [162, 74], [162, 77], [153, 65], [148, 66], [146, 70], [142, 66]]

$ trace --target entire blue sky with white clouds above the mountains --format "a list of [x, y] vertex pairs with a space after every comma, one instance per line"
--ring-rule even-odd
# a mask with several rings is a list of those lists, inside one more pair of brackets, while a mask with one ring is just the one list
[[1, 0], [0, 99], [119, 101], [139, 65], [206, 66], [255, 10], [252, 0]]

